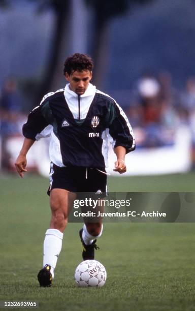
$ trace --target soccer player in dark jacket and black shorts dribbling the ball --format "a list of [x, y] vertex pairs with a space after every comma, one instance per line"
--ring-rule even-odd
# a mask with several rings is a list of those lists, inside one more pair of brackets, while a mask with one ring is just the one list
[[[15, 166], [21, 177], [26, 172], [26, 154], [42, 137], [51, 137], [50, 196], [51, 222], [45, 233], [43, 269], [38, 273], [40, 286], [51, 286], [63, 231], [67, 226], [68, 193], [73, 202], [77, 193], [90, 192], [97, 198], [107, 191], [108, 144], [116, 153], [114, 171], [126, 172], [125, 154], [135, 149], [131, 126], [120, 106], [90, 83], [93, 61], [75, 53], [64, 63], [64, 88], [50, 92], [28, 115], [23, 125], [24, 142]], [[40, 159], [41, 160], [41, 159]], [[83, 260], [94, 259], [96, 238], [103, 225], [86, 222], [79, 235]]]

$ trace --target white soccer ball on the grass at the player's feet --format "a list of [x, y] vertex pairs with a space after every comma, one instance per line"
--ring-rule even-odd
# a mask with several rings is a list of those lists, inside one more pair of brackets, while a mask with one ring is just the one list
[[85, 260], [75, 270], [75, 281], [80, 287], [102, 287], [106, 277], [105, 267], [96, 260]]

